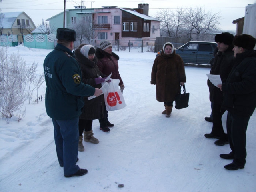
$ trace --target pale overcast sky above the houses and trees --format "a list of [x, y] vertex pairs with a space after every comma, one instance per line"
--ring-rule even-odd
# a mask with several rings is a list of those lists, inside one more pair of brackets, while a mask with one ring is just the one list
[[[123, 8], [138, 8], [138, 3], [149, 4], [149, 16], [154, 16], [160, 9], [196, 8], [202, 7], [206, 11], [220, 12], [222, 19], [219, 28], [235, 30], [233, 20], [244, 17], [245, 6], [256, 3], [256, 0], [91, 0], [82, 1], [86, 8], [101, 8], [102, 6], [118, 6]], [[66, 0], [66, 9], [73, 9], [81, 5], [81, 0]], [[64, 0], [2, 0], [1, 12], [24, 11], [34, 24], [39, 26], [44, 21], [64, 9]]]

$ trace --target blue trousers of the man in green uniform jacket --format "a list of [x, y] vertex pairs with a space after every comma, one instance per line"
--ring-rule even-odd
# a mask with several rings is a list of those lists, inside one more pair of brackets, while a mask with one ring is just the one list
[[54, 120], [54, 140], [60, 166], [64, 167], [64, 175], [71, 175], [79, 170], [76, 165], [78, 155], [78, 120]]

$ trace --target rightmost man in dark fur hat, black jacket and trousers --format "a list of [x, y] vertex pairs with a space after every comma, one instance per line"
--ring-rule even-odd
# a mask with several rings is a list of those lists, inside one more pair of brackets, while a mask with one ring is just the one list
[[227, 132], [231, 152], [221, 158], [233, 159], [225, 165], [228, 170], [243, 169], [246, 163], [246, 130], [256, 107], [256, 39], [250, 35], [236, 35], [234, 66], [226, 82], [218, 85], [224, 93], [222, 108], [228, 111]]

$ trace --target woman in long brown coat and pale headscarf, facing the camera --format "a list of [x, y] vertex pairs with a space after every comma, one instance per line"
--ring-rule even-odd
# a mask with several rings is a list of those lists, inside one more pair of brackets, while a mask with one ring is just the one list
[[156, 100], [164, 102], [162, 114], [171, 116], [173, 101], [180, 92], [180, 85], [186, 82], [185, 68], [182, 58], [175, 54], [174, 46], [164, 44], [162, 52], [156, 57], [152, 72], [151, 84], [156, 85]]

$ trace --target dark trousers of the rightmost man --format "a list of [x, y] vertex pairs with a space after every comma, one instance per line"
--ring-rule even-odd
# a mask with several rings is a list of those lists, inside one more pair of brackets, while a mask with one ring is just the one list
[[234, 152], [233, 162], [244, 165], [246, 160], [246, 130], [250, 117], [242, 117], [228, 112], [227, 132], [229, 146]]

